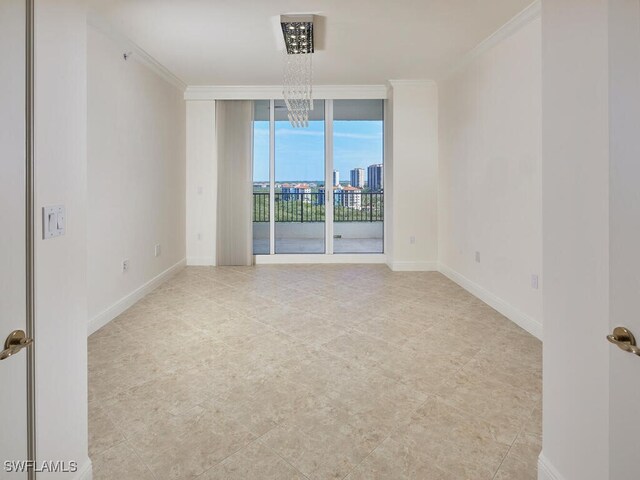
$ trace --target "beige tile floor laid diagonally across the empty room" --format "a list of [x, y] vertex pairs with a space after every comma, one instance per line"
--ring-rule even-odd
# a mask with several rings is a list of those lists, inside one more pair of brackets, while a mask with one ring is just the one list
[[189, 267], [89, 338], [95, 480], [534, 480], [541, 344], [438, 273]]

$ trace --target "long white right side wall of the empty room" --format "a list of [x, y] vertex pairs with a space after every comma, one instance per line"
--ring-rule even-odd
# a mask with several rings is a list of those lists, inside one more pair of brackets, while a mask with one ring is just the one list
[[531, 286], [535, 274], [542, 287], [539, 16], [509, 33], [438, 84], [439, 260], [541, 336], [542, 293]]

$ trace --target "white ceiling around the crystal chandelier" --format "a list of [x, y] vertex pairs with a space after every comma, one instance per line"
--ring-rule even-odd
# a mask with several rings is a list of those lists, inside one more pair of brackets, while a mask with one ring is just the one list
[[[532, 0], [93, 0], [188, 85], [277, 85], [281, 14], [320, 15], [317, 85], [440, 77]], [[318, 48], [319, 47], [319, 48]]]

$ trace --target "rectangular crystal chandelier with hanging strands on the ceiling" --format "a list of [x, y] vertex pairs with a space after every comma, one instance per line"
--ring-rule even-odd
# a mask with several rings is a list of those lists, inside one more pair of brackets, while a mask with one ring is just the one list
[[284, 84], [282, 95], [293, 127], [308, 127], [313, 110], [313, 15], [282, 15]]

